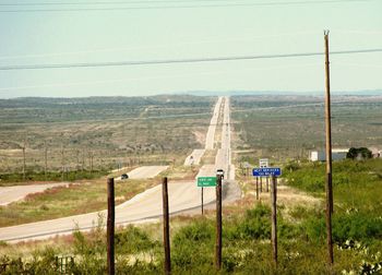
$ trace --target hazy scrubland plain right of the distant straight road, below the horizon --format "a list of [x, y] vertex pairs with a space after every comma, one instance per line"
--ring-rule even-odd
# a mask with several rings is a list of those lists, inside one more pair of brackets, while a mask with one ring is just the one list
[[[236, 148], [274, 162], [308, 158], [325, 144], [323, 98], [318, 96], [235, 96]], [[333, 96], [333, 147], [382, 147], [382, 97]]]

